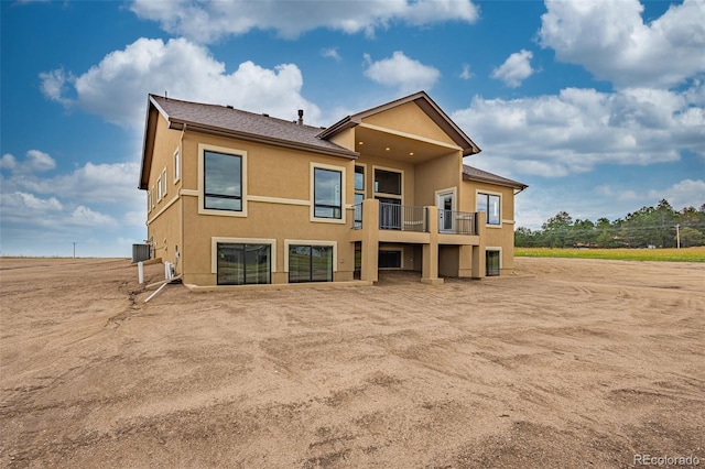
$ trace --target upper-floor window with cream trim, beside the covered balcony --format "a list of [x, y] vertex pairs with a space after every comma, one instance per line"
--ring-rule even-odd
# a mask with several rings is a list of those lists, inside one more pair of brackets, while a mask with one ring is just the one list
[[345, 222], [345, 167], [311, 164], [311, 220]]

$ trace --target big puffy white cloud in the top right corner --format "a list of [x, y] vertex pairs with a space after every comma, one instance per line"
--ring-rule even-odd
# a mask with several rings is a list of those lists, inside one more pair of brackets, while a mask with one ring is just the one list
[[705, 72], [705, 1], [644, 24], [638, 0], [546, 0], [540, 42], [617, 87], [671, 87]]

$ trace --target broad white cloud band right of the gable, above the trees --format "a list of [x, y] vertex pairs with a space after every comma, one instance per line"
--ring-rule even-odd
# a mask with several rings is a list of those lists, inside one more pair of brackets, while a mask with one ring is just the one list
[[499, 174], [566, 176], [598, 164], [673, 162], [680, 152], [705, 159], [705, 111], [688, 91], [563, 89], [513, 100], [475, 97], [452, 118]]

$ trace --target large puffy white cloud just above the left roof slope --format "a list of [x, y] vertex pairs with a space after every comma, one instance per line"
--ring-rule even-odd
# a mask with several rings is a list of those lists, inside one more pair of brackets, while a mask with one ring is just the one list
[[[155, 2], [160, 3], [160, 2]], [[64, 77], [61, 87], [56, 77]], [[102, 116], [123, 127], [141, 130], [149, 92], [186, 100], [231, 105], [253, 112], [294, 118], [305, 109], [308, 122], [318, 123], [321, 110], [301, 96], [303, 77], [296, 65], [268, 69], [243, 62], [231, 74], [203, 46], [185, 39], [139, 39], [122, 51], [106, 55], [78, 76], [53, 70], [41, 75], [50, 99]], [[72, 92], [66, 91], [68, 85]], [[47, 91], [48, 89], [48, 91]], [[75, 98], [69, 95], [74, 94]]]

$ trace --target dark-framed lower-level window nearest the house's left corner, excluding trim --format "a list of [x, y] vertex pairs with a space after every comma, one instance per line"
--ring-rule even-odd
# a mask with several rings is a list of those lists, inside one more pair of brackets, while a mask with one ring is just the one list
[[218, 285], [271, 283], [271, 246], [217, 244]]

